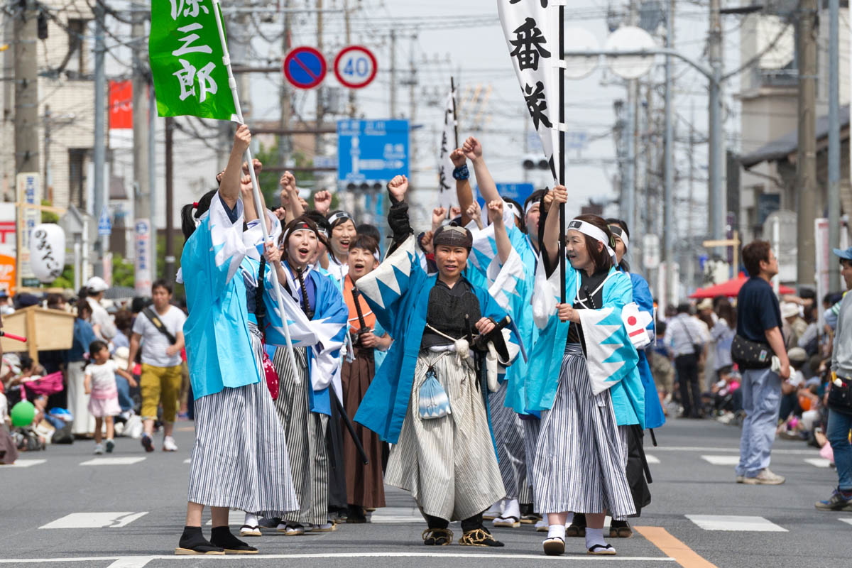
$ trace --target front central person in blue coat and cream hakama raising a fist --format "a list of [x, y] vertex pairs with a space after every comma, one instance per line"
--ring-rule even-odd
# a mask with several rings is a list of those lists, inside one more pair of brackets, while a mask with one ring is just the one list
[[[433, 237], [438, 273], [420, 266], [407, 190], [404, 175], [388, 184], [394, 244], [385, 261], [356, 283], [397, 341], [354, 420], [394, 445], [385, 483], [412, 491], [428, 525], [424, 544], [449, 544], [449, 523], [461, 520], [460, 544], [500, 547], [482, 525], [482, 513], [506, 494], [486, 401], [487, 391], [498, 387], [501, 366], [514, 360], [517, 341], [508, 328], [497, 327], [505, 324], [503, 308], [468, 278], [473, 238], [467, 229], [440, 227]], [[471, 342], [474, 334], [480, 339]], [[471, 353], [481, 341], [491, 346], [483, 369], [487, 386]]]

